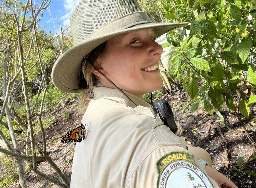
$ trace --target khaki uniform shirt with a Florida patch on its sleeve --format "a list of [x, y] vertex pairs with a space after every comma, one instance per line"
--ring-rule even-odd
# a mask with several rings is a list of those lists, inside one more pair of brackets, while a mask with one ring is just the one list
[[217, 187], [184, 140], [163, 125], [139, 97], [97, 87], [82, 123], [87, 135], [77, 143], [71, 187]]

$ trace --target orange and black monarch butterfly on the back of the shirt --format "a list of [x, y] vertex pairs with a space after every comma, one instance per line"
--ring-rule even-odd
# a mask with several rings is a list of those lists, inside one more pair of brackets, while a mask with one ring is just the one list
[[[87, 123], [89, 124], [89, 123]], [[88, 131], [85, 126], [87, 124], [81, 125], [77, 128], [74, 128], [72, 131], [69, 131], [62, 139], [61, 143], [68, 143], [68, 142], [82, 142], [82, 139], [85, 139], [86, 131]], [[86, 131], [85, 131], [86, 130]]]

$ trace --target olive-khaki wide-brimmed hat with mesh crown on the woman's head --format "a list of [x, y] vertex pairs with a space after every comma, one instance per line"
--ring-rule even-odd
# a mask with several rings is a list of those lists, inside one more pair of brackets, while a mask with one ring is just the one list
[[82, 0], [70, 18], [75, 45], [54, 63], [53, 84], [63, 92], [81, 92], [82, 58], [116, 35], [153, 28], [157, 38], [186, 25], [188, 23], [152, 23], [136, 0]]

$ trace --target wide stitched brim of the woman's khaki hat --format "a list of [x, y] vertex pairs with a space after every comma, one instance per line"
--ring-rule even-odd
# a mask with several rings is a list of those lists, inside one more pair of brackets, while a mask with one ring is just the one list
[[54, 63], [52, 69], [53, 84], [61, 91], [66, 93], [79, 93], [82, 58], [91, 52], [98, 45], [115, 37], [119, 34], [124, 34], [132, 31], [144, 30], [148, 28], [154, 29], [155, 37], [174, 30], [179, 27], [187, 26], [188, 23], [145, 23], [132, 26], [126, 29], [118, 30], [111, 33], [106, 33], [101, 36], [85, 39], [78, 45], [73, 46], [61, 55]]

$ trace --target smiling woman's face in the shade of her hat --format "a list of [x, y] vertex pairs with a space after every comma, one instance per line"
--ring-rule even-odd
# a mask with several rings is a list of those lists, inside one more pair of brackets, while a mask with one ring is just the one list
[[[159, 61], [162, 46], [154, 41], [153, 29], [117, 35], [107, 41], [106, 53], [95, 65], [120, 89], [142, 97], [162, 87]], [[95, 69], [103, 85], [115, 88]]]

